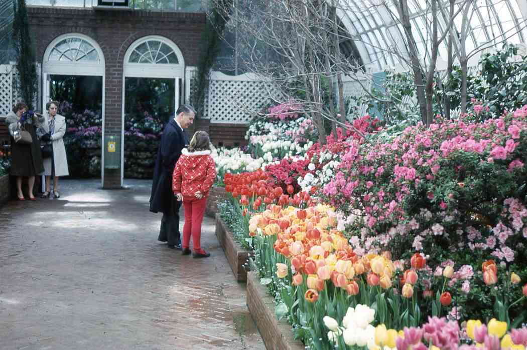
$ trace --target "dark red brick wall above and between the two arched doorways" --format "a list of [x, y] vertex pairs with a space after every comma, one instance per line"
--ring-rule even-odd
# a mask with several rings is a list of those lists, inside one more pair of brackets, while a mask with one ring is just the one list
[[[81, 33], [102, 49], [106, 63], [105, 133], [121, 135], [123, 59], [135, 40], [148, 35], [167, 37], [178, 45], [185, 64], [195, 66], [200, 54], [204, 13], [95, 11], [93, 9], [28, 7], [36, 57], [42, 62], [45, 49], [57, 36]], [[104, 188], [121, 185], [121, 170], [106, 170]]]

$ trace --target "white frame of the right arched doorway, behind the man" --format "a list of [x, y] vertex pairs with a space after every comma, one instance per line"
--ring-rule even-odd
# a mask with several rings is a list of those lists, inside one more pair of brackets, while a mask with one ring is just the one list
[[[174, 50], [178, 57], [178, 64], [144, 64], [144, 63], [129, 63], [130, 55], [133, 50], [144, 42], [149, 40], [159, 40], [167, 44]], [[174, 95], [175, 106], [174, 111], [179, 107], [179, 79], [181, 79], [183, 88], [185, 81], [185, 63], [183, 54], [177, 45], [172, 40], [159, 36], [149, 35], [135, 40], [124, 55], [123, 62], [123, 82], [122, 82], [122, 104], [121, 104], [121, 187], [124, 186], [124, 111], [125, 111], [125, 82], [126, 78], [163, 78], [174, 79]], [[183, 90], [184, 91], [184, 90]]]

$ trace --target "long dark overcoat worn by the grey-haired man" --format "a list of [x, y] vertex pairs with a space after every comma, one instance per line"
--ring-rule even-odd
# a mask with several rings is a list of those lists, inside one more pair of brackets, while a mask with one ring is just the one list
[[161, 145], [155, 159], [152, 192], [150, 194], [150, 211], [168, 214], [171, 208], [172, 172], [175, 163], [181, 156], [181, 150], [189, 143], [187, 133], [172, 118], [163, 130]]

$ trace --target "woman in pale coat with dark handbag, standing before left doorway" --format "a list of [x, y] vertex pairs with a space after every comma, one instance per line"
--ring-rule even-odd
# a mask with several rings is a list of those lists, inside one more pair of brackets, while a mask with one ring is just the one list
[[53, 196], [54, 198], [60, 198], [60, 193], [58, 193], [58, 177], [70, 174], [67, 168], [66, 148], [62, 140], [66, 133], [66, 119], [57, 114], [57, 107], [58, 102], [47, 102], [47, 117], [41, 126], [44, 132], [46, 132], [41, 137], [41, 141], [51, 142], [53, 145], [53, 155], [49, 158], [44, 158], [46, 191], [42, 194], [42, 198], [50, 197], [51, 177], [53, 177]]

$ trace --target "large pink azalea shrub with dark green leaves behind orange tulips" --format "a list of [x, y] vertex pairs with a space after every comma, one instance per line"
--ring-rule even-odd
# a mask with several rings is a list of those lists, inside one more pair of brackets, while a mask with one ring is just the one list
[[[527, 279], [527, 106], [481, 123], [437, 119], [389, 141], [355, 140], [341, 159], [321, 195], [343, 215], [358, 254], [417, 251], [430, 254], [430, 266], [451, 258], [474, 270], [494, 259]], [[460, 293], [470, 283], [467, 302], [485, 293], [481, 274], [452, 283]]]

